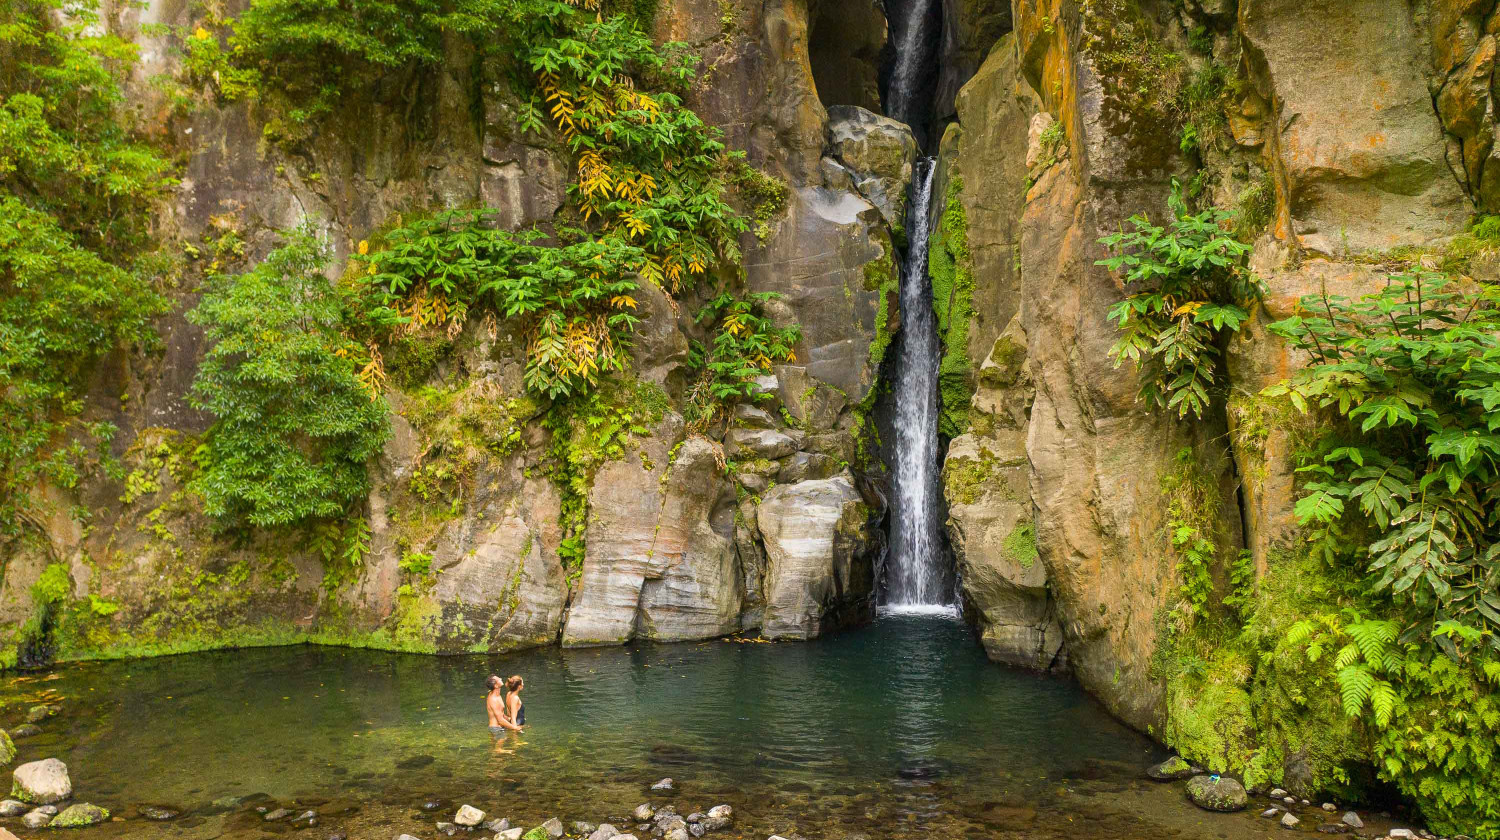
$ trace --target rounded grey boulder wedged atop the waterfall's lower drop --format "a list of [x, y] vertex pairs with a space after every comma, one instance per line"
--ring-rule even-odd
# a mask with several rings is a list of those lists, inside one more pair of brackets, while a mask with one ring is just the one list
[[906, 220], [916, 140], [906, 123], [856, 105], [828, 108], [828, 148], [849, 171], [854, 188], [892, 228]]

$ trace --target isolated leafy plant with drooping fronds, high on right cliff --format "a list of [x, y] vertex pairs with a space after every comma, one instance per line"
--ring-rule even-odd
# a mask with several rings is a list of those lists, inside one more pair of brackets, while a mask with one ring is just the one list
[[1220, 342], [1250, 318], [1262, 285], [1244, 266], [1250, 246], [1226, 232], [1233, 213], [1191, 213], [1176, 178], [1168, 206], [1167, 228], [1131, 216], [1130, 231], [1100, 238], [1112, 256], [1096, 264], [1137, 290], [1110, 308], [1122, 333], [1110, 358], [1140, 369], [1142, 399], [1202, 418], [1221, 384]]

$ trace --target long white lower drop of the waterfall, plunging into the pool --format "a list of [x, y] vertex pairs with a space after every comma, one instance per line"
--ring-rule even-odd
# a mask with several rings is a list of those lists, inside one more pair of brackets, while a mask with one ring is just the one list
[[952, 574], [938, 522], [938, 320], [927, 276], [932, 226], [932, 158], [912, 171], [906, 210], [909, 248], [902, 264], [902, 342], [896, 358], [896, 452], [892, 460], [891, 550], [886, 556], [885, 603], [892, 606], [952, 603]]

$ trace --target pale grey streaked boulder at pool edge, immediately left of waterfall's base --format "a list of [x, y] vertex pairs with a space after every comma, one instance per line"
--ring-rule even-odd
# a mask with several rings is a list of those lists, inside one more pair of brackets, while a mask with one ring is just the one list
[[756, 510], [765, 546], [768, 639], [812, 639], [868, 614], [868, 508], [848, 472], [777, 484]]

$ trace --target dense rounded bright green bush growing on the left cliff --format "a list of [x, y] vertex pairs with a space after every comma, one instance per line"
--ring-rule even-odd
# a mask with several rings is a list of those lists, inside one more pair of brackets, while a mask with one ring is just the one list
[[369, 490], [386, 402], [358, 378], [362, 348], [342, 334], [348, 306], [324, 261], [312, 232], [291, 232], [254, 270], [212, 278], [189, 314], [212, 342], [192, 400], [218, 418], [192, 488], [230, 525], [334, 518]]

